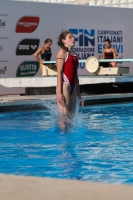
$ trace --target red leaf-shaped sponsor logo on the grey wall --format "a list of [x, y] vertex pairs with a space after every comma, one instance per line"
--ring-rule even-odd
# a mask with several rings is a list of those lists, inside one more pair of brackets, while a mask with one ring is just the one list
[[32, 33], [34, 32], [39, 24], [39, 17], [22, 17], [16, 25], [16, 33]]

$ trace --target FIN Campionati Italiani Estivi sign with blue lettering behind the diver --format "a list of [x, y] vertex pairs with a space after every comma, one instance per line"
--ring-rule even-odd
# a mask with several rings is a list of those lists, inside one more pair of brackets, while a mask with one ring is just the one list
[[[123, 58], [124, 54], [124, 28], [120, 25], [108, 24], [84, 24], [67, 23], [67, 29], [75, 37], [74, 51], [79, 59], [87, 59], [90, 56], [102, 58], [102, 51], [105, 48], [105, 40], [109, 38], [111, 45], [116, 50], [117, 58]], [[122, 63], [118, 63], [118, 65]], [[85, 63], [79, 64], [79, 70], [84, 71]]]

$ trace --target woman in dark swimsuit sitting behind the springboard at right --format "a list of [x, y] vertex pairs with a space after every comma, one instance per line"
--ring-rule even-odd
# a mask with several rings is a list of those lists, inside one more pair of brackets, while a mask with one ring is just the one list
[[[102, 51], [102, 59], [116, 59], [116, 50], [111, 47], [111, 41], [105, 40], [106, 48]], [[116, 62], [100, 63], [103, 67], [116, 67]]]

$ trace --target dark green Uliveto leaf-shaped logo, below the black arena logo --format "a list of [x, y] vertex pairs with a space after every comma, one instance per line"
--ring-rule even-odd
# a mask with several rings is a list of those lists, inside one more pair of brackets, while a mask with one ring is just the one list
[[35, 76], [39, 70], [39, 62], [25, 61], [18, 67], [16, 77]]

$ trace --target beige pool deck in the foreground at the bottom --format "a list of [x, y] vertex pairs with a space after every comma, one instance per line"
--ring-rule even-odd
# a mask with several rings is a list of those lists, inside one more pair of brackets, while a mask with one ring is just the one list
[[1, 200], [132, 200], [133, 186], [0, 175]]

